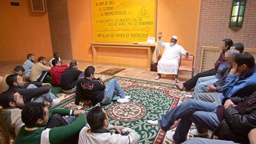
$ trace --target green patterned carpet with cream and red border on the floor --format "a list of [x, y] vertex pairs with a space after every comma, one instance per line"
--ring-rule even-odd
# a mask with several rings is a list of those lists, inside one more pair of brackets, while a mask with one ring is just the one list
[[[151, 126], [146, 121], [159, 119], [171, 108], [181, 103], [185, 94], [189, 94], [178, 91], [173, 84], [101, 74], [97, 74], [95, 77], [103, 79], [106, 85], [111, 79], [116, 79], [126, 95], [131, 97], [129, 103], [119, 104], [113, 101], [103, 108], [107, 111], [111, 124], [130, 127], [139, 133], [138, 143], [163, 143], [165, 132], [159, 127]], [[72, 107], [74, 100], [75, 97], [71, 97], [52, 108], [72, 108], [74, 110], [82, 108], [83, 103]], [[86, 111], [90, 110], [91, 105], [86, 108]], [[177, 123], [171, 129], [174, 129], [176, 125]]]

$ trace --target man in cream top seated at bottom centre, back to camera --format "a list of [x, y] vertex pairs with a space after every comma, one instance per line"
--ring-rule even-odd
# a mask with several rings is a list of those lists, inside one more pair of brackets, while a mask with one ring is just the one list
[[[137, 143], [140, 136], [130, 128], [113, 126], [109, 123], [106, 111], [101, 107], [94, 107], [87, 113], [89, 124], [79, 133], [79, 144], [94, 143]], [[110, 130], [115, 129], [116, 133]]]

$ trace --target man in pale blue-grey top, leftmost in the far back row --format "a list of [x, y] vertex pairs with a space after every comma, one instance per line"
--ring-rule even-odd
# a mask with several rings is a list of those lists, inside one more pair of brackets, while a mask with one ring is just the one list
[[25, 69], [25, 79], [27, 81], [30, 81], [29, 77], [30, 77], [30, 70], [31, 68], [34, 66], [34, 60], [35, 60], [35, 56], [33, 54], [28, 54], [27, 55], [27, 60], [25, 60], [25, 62], [23, 63], [23, 68]]

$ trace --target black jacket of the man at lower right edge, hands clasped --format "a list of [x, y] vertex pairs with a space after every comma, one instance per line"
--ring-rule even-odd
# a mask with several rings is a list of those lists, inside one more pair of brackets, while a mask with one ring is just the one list
[[[228, 100], [225, 98], [223, 103]], [[224, 110], [225, 120], [222, 120], [213, 135], [223, 140], [232, 140], [237, 143], [249, 143], [248, 133], [256, 128], [256, 91], [248, 97], [232, 97], [230, 100], [238, 105], [245, 105], [238, 110], [228, 107]]]

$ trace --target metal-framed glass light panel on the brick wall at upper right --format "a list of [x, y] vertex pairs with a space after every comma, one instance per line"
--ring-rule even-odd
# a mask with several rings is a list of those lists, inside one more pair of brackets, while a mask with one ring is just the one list
[[230, 28], [241, 28], [244, 20], [246, 0], [233, 0], [231, 19], [229, 21]]

